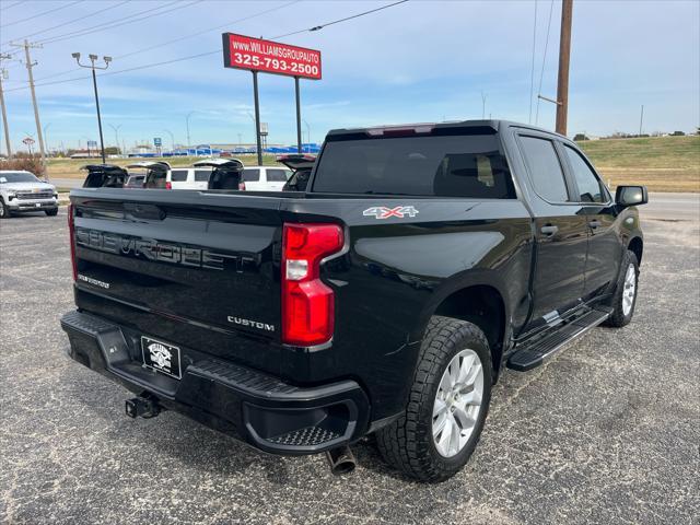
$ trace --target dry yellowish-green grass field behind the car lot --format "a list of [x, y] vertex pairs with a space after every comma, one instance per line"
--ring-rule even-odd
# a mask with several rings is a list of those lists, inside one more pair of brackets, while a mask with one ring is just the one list
[[[615, 188], [621, 184], [644, 184], [650, 191], [700, 191], [700, 137], [658, 137], [646, 139], [586, 140], [579, 145], [593, 161], [605, 182]], [[173, 166], [189, 166], [198, 159], [164, 159]], [[242, 155], [244, 164], [257, 162], [254, 155]], [[138, 159], [109, 159], [120, 166]], [[83, 178], [80, 167], [100, 162], [97, 159], [51, 159], [49, 176]], [[264, 164], [273, 165], [275, 155], [264, 155]]]

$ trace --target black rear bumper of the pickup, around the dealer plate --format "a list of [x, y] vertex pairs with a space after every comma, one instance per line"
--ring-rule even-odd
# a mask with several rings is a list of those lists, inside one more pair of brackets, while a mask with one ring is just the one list
[[61, 318], [69, 355], [164, 408], [276, 454], [314, 454], [368, 429], [370, 406], [353, 381], [308, 388], [182, 347], [182, 380], [142, 366], [140, 334], [83, 312]]

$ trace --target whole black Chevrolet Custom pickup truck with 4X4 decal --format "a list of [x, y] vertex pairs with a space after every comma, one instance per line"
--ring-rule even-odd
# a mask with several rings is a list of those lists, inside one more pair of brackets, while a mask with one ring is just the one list
[[504, 368], [630, 322], [648, 201], [497, 120], [330, 131], [303, 192], [70, 198], [69, 354], [137, 395], [129, 416], [336, 470], [374, 434], [425, 481], [465, 465]]

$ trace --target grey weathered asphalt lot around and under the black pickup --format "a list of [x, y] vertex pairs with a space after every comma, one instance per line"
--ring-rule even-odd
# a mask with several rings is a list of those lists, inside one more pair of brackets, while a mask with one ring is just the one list
[[127, 419], [127, 393], [63, 354], [63, 211], [2, 221], [0, 523], [698, 523], [693, 202], [648, 208], [633, 323], [505, 373], [470, 464], [438, 486], [371, 442], [334, 478], [323, 457], [265, 456], [175, 413]]

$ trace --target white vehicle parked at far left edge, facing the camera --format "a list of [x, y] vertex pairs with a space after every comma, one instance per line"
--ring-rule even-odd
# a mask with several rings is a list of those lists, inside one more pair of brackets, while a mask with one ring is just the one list
[[47, 215], [56, 215], [56, 186], [39, 180], [30, 172], [0, 171], [0, 219], [25, 211], [44, 211]]

